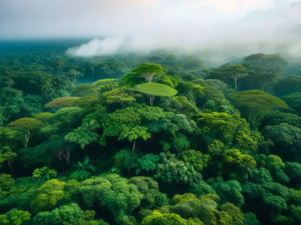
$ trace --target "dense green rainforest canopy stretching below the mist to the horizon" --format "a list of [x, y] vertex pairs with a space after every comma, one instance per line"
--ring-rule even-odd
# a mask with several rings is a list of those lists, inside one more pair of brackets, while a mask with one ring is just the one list
[[301, 63], [0, 43], [0, 224], [301, 224]]

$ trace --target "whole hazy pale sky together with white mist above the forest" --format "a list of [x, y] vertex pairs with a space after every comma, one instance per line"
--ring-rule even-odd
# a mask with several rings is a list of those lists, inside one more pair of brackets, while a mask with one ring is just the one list
[[216, 60], [257, 52], [301, 58], [301, 1], [292, 2], [1, 0], [0, 39], [91, 37], [66, 49], [84, 57], [169, 48]]

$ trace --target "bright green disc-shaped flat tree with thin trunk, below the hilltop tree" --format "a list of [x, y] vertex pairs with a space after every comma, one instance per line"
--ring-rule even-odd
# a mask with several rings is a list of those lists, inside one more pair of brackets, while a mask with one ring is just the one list
[[150, 99], [151, 106], [153, 106], [154, 97], [172, 97], [177, 94], [177, 91], [168, 85], [159, 83], [144, 83], [138, 84], [134, 89]]

